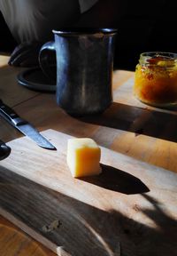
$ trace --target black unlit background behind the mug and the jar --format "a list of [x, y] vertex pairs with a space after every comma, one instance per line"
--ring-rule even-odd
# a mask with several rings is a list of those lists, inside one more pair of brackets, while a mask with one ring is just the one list
[[[103, 1], [103, 2], [102, 2]], [[104, 3], [106, 1], [102, 0]], [[118, 28], [114, 67], [135, 70], [141, 52], [177, 52], [176, 12], [173, 0], [109, 0], [97, 4], [93, 19], [83, 17], [78, 26]], [[104, 21], [103, 21], [104, 20]], [[82, 23], [81, 23], [82, 22]], [[92, 27], [93, 27], [92, 26]], [[17, 45], [0, 12], [0, 52], [12, 52]]]

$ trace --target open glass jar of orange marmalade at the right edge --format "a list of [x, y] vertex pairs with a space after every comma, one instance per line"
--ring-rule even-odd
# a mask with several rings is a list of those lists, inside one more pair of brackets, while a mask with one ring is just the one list
[[135, 68], [134, 94], [155, 107], [177, 105], [177, 54], [143, 52]]

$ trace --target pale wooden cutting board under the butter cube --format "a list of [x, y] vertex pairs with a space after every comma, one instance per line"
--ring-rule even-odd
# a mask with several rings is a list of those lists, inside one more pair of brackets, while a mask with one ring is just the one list
[[177, 174], [101, 148], [103, 172], [73, 179], [68, 136], [12, 140], [0, 162], [0, 213], [58, 255], [177, 255]]

